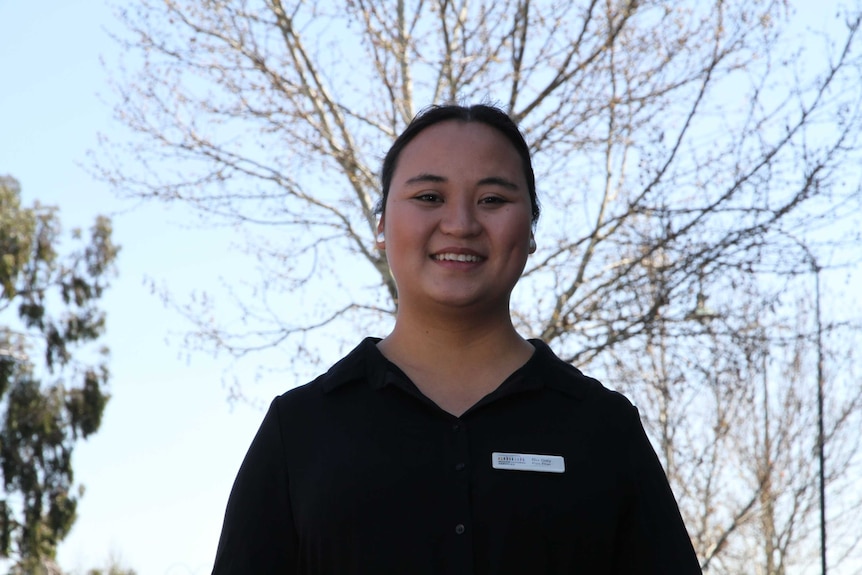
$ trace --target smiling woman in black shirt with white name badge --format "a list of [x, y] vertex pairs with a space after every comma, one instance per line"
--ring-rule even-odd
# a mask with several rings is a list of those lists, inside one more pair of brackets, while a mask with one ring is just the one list
[[635, 408], [512, 325], [539, 207], [511, 119], [431, 108], [381, 179], [395, 327], [272, 403], [213, 573], [700, 573]]

